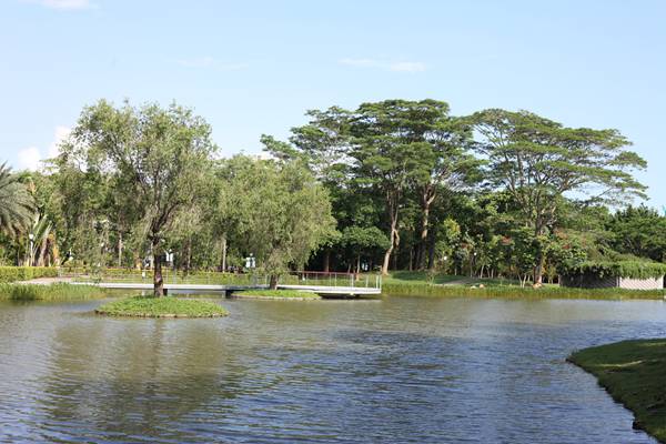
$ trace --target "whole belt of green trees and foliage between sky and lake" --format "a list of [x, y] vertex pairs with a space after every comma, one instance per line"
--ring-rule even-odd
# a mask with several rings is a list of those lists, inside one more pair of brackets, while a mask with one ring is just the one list
[[644, 191], [632, 172], [645, 162], [616, 130], [525, 111], [455, 117], [437, 100], [306, 115], [287, 142], [262, 137], [274, 160], [219, 160], [191, 110], [88, 107], [44, 173], [0, 173], [36, 209], [20, 236], [0, 232], [0, 264], [99, 274], [151, 254], [160, 269], [171, 251], [169, 269], [196, 280], [253, 253], [273, 274], [381, 264], [526, 284], [585, 261], [665, 259], [665, 216], [610, 211]]

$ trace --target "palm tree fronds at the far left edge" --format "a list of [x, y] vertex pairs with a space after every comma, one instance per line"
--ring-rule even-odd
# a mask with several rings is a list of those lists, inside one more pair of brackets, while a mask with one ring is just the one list
[[30, 226], [34, 201], [7, 163], [0, 165], [0, 230], [11, 236]]

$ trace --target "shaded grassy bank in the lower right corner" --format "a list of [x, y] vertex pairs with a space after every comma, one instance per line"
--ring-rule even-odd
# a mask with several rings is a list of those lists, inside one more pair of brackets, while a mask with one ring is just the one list
[[666, 443], [666, 339], [623, 341], [581, 350], [567, 361], [595, 375], [634, 412], [634, 426]]

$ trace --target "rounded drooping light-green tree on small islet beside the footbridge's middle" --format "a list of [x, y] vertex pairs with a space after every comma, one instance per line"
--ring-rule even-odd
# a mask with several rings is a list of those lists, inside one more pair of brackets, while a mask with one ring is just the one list
[[299, 162], [238, 155], [224, 168], [229, 230], [275, 289], [280, 276], [303, 266], [334, 230], [327, 193]]

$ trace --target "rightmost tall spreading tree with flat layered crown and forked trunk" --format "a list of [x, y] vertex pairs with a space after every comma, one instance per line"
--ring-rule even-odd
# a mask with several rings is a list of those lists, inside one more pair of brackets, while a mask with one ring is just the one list
[[531, 112], [498, 109], [472, 119], [483, 138], [478, 148], [488, 161], [488, 182], [511, 193], [541, 245], [535, 253], [535, 284], [543, 278], [543, 236], [556, 225], [566, 193], [609, 204], [644, 196], [645, 186], [632, 172], [646, 162], [626, 149], [629, 141], [616, 130], [566, 128]]

